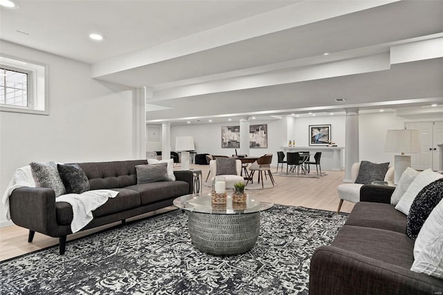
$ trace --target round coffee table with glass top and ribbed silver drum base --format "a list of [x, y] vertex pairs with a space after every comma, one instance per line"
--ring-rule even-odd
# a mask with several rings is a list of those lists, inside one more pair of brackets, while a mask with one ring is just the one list
[[228, 195], [226, 205], [213, 205], [208, 194], [178, 197], [174, 206], [188, 211], [189, 234], [197, 249], [215, 256], [233, 256], [254, 247], [260, 233], [260, 212], [273, 203], [248, 195], [245, 204], [236, 204]]

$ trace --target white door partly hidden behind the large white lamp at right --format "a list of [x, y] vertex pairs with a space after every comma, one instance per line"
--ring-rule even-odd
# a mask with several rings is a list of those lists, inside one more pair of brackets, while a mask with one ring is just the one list
[[420, 145], [422, 151], [413, 153], [411, 166], [416, 170], [433, 168], [433, 122], [427, 123], [406, 123], [406, 129], [420, 130]]

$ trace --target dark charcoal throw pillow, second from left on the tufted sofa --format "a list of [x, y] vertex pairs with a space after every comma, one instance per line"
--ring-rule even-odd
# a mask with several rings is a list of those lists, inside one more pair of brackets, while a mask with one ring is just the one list
[[88, 177], [77, 164], [57, 164], [57, 170], [64, 188], [66, 188], [66, 193], [81, 194], [89, 190]]

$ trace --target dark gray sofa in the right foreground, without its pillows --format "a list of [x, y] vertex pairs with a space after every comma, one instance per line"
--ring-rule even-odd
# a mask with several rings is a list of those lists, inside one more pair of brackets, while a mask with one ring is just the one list
[[411, 271], [414, 241], [394, 188], [365, 185], [331, 245], [311, 258], [309, 294], [442, 294], [443, 280]]

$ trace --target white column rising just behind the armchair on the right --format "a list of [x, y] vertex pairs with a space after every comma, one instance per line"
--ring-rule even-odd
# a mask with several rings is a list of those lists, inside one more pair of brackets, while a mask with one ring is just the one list
[[352, 164], [360, 161], [359, 108], [345, 109], [345, 182], [352, 182]]

